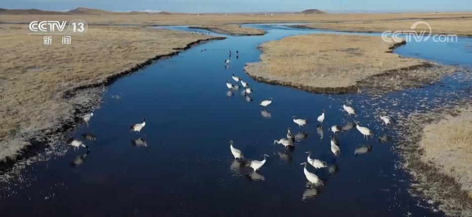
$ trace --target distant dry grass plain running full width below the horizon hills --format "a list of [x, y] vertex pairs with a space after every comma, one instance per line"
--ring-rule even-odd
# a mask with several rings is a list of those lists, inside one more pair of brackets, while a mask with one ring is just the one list
[[72, 20], [81, 19], [89, 24], [133, 24], [133, 25], [208, 25], [240, 23], [274, 23], [274, 22], [352, 22], [384, 21], [405, 19], [457, 19], [472, 18], [472, 13], [405, 13], [405, 14], [137, 14], [137, 15], [0, 15], [0, 22], [23, 22], [32, 20]]

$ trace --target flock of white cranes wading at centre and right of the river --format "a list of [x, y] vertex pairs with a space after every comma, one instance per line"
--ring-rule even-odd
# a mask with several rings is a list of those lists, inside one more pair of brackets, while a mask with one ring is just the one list
[[[229, 64], [230, 62], [231, 62], [231, 60], [229, 60], [229, 59], [225, 60], [225, 64]], [[236, 84], [233, 84], [229, 80], [226, 80], [226, 86], [228, 87], [228, 89], [230, 91], [234, 90], [234, 89], [239, 89], [239, 83], [241, 83], [242, 87], [244, 88], [244, 91], [242, 91], [242, 93], [244, 93], [244, 95], [248, 96], [248, 95], [250, 95], [251, 93], [254, 92], [249, 87], [249, 84], [247, 82], [244, 82], [240, 77], [237, 77], [233, 74], [232, 79], [236, 82]], [[265, 110], [267, 108], [267, 106], [269, 106], [271, 103], [272, 103], [272, 98], [269, 98], [269, 99], [261, 101], [259, 104], [261, 106], [263, 106], [264, 110]], [[348, 115], [357, 116], [356, 111], [351, 106], [343, 104], [342, 105], [342, 110], [344, 110]], [[325, 120], [325, 111], [323, 110], [322, 114], [320, 116], [318, 116], [318, 118], [317, 118], [317, 121], [319, 122], [320, 126], [323, 124], [324, 120]], [[393, 122], [393, 119], [389, 116], [380, 116], [380, 120], [383, 121], [383, 123], [387, 126], [392, 124], [392, 122]], [[297, 124], [299, 128], [303, 128], [306, 125], [308, 125], [308, 120], [299, 119], [299, 118], [296, 118], [295, 116], [292, 117], [292, 121], [295, 124]], [[364, 136], [364, 138], [368, 139], [369, 136], [373, 135], [372, 131], [369, 128], [361, 126], [359, 122], [355, 122], [353, 126], [356, 126], [356, 129]], [[334, 156], [338, 156], [340, 154], [341, 150], [339, 148], [339, 143], [336, 140], [335, 135], [336, 135], [336, 132], [341, 131], [341, 127], [339, 127], [338, 125], [334, 125], [334, 126], [331, 126], [330, 129], [333, 132], [333, 135], [330, 136], [331, 137], [331, 141], [330, 141], [331, 152], [334, 154]], [[288, 128], [286, 138], [281, 138], [279, 140], [274, 140], [274, 144], [281, 144], [285, 148], [288, 148], [288, 147], [291, 147], [291, 146], [295, 146], [295, 144], [293, 143], [294, 140], [295, 140], [295, 137], [292, 135], [292, 133], [290, 131], [290, 128]], [[233, 154], [235, 160], [244, 160], [243, 153], [241, 152], [241, 150], [234, 147], [233, 140], [231, 140], [229, 142], [229, 144], [230, 144], [231, 153]], [[371, 147], [365, 147], [365, 148], [369, 149]], [[311, 158], [311, 151], [308, 151], [307, 153], [308, 153], [307, 161], [300, 164], [300, 165], [304, 165], [305, 177], [307, 178], [309, 183], [314, 185], [314, 186], [323, 185], [322, 180], [316, 174], [311, 173], [307, 170], [307, 166], [311, 165], [315, 169], [318, 170], [318, 169], [321, 169], [321, 168], [326, 168], [327, 164], [326, 164], [325, 161], [321, 161], [319, 159]], [[264, 154], [264, 159], [263, 160], [249, 160], [249, 161], [244, 162], [244, 163], [245, 163], [246, 166], [252, 168], [252, 170], [254, 172], [256, 172], [261, 167], [264, 166], [264, 164], [266, 163], [267, 157], [269, 157], [269, 155]]]

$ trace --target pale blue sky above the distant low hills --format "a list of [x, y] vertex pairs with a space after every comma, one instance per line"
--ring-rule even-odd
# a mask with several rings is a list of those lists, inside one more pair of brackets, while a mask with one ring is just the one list
[[325, 11], [470, 11], [472, 0], [1, 0], [0, 8], [65, 11], [77, 7], [108, 11], [189, 13]]

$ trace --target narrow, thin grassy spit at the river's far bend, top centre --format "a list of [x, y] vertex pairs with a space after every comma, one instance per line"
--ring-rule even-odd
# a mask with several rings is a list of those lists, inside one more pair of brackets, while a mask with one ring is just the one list
[[266, 31], [255, 28], [242, 27], [240, 25], [203, 25], [203, 26], [190, 26], [193, 29], [205, 29], [208, 31], [233, 35], [233, 36], [251, 36], [251, 35], [264, 35]]

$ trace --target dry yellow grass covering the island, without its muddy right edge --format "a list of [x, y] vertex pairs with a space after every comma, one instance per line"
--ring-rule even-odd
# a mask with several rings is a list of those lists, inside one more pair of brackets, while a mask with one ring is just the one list
[[426, 63], [388, 52], [393, 45], [373, 36], [298, 35], [264, 43], [261, 62], [250, 63], [245, 69], [266, 82], [337, 92], [353, 89], [369, 76]]

